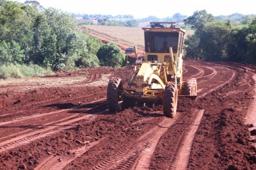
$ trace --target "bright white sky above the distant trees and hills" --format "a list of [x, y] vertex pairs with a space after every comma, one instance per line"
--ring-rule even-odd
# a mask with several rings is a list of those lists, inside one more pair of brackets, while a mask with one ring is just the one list
[[[13, 0], [24, 3], [23, 0]], [[172, 17], [175, 13], [191, 16], [206, 10], [214, 16], [241, 13], [256, 14], [255, 0], [37, 0], [44, 8], [56, 8], [68, 13], [133, 15], [134, 18]]]

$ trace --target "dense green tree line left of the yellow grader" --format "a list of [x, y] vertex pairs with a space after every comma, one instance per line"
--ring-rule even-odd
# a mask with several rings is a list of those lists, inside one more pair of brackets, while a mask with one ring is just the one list
[[[52, 70], [72, 70], [106, 65], [98, 58], [104, 46], [109, 45], [76, 29], [68, 13], [45, 9], [37, 1], [22, 4], [0, 0], [0, 66], [32, 63]], [[118, 46], [110, 46], [120, 56]], [[120, 59], [113, 62], [114, 67], [122, 65]]]

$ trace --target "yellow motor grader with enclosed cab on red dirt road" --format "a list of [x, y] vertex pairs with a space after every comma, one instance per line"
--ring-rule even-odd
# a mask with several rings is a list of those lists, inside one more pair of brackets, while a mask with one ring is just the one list
[[132, 66], [127, 86], [118, 77], [109, 80], [107, 104], [110, 111], [120, 111], [128, 102], [161, 102], [163, 114], [172, 118], [180, 97], [196, 98], [196, 79], [183, 81], [182, 52], [186, 31], [178, 22], [150, 22], [143, 27], [145, 59], [138, 58]]

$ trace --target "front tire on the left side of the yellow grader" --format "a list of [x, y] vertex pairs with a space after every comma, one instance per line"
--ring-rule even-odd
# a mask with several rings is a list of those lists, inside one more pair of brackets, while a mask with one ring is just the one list
[[120, 95], [123, 89], [122, 80], [113, 77], [108, 82], [108, 90], [107, 90], [107, 105], [109, 111], [120, 111], [121, 107], [118, 104], [120, 100]]

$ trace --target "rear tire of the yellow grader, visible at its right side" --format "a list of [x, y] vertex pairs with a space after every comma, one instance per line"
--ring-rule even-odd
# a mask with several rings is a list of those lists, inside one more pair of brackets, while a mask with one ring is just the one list
[[187, 79], [186, 81], [184, 81], [184, 85], [182, 88], [182, 95], [196, 96], [196, 91], [197, 91], [196, 79]]

